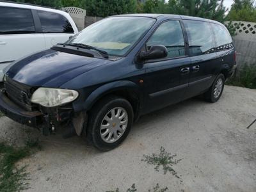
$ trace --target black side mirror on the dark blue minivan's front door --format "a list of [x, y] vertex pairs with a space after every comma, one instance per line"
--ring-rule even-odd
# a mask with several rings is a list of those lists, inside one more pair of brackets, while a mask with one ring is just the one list
[[154, 60], [159, 58], [165, 58], [168, 51], [164, 45], [152, 45], [149, 51], [141, 51], [141, 60]]

